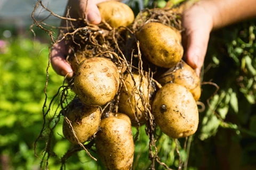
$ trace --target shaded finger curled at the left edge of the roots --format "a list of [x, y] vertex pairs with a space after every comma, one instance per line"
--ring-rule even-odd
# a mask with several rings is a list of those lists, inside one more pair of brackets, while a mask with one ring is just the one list
[[62, 76], [67, 76], [67, 78], [73, 77], [73, 70], [71, 66], [67, 63], [65, 59], [66, 52], [65, 42], [61, 41], [56, 44], [51, 50], [51, 64], [53, 70]]

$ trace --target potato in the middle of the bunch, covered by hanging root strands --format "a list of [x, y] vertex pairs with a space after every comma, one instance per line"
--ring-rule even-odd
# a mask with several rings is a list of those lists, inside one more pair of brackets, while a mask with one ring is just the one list
[[124, 75], [125, 86], [122, 86], [120, 92], [119, 111], [128, 115], [131, 118], [133, 124], [137, 123], [136, 117], [138, 118], [139, 123], [144, 123], [145, 106], [142, 104], [142, 100], [139, 95], [139, 89], [141, 90], [146, 101], [148, 101], [148, 95], [150, 94], [150, 91], [148, 90], [148, 80], [146, 77], [143, 77], [142, 82], [140, 83], [141, 75], [138, 73], [133, 73], [133, 78], [135, 85], [130, 73]]

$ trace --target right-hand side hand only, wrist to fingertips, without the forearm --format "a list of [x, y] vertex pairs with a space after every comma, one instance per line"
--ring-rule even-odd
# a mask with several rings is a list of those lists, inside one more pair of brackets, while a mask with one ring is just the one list
[[185, 61], [200, 75], [201, 67], [207, 50], [210, 32], [213, 28], [213, 19], [210, 8], [205, 8], [201, 3], [189, 7], [183, 12], [182, 45], [185, 49]]

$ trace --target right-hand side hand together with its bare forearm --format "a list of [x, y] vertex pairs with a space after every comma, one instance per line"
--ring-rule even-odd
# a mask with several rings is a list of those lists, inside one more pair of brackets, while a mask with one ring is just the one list
[[256, 0], [201, 0], [183, 12], [186, 62], [200, 74], [212, 29], [256, 17]]

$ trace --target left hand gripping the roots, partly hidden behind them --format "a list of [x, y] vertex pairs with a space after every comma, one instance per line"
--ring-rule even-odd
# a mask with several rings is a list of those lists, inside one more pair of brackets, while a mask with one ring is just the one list
[[[85, 18], [92, 24], [99, 24], [101, 22], [101, 16], [97, 4], [107, 0], [69, 0], [68, 5], [70, 8], [70, 18]], [[87, 4], [86, 4], [87, 2]], [[65, 12], [66, 16], [67, 11]], [[61, 21], [61, 26], [66, 27], [66, 21]], [[68, 78], [73, 77], [73, 70], [71, 66], [66, 62], [66, 55], [69, 49], [65, 45], [64, 41], [53, 46], [51, 51], [51, 64], [57, 74], [66, 76]]]

